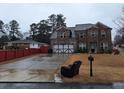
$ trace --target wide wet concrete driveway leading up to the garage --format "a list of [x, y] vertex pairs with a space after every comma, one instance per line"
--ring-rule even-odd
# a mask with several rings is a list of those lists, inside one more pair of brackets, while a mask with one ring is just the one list
[[54, 82], [54, 74], [69, 55], [40, 54], [0, 64], [0, 82]]

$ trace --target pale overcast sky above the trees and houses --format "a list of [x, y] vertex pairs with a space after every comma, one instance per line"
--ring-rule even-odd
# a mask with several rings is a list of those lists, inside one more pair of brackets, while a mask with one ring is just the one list
[[20, 31], [29, 31], [29, 25], [47, 19], [50, 14], [62, 13], [66, 17], [67, 26], [100, 21], [111, 28], [112, 38], [117, 27], [113, 20], [121, 16], [123, 4], [0, 4], [0, 20], [9, 23], [17, 20]]

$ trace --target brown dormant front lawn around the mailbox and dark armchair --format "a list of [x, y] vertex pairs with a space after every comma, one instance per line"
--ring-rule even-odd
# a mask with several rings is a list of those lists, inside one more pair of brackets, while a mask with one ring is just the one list
[[89, 76], [88, 56], [88, 54], [73, 54], [64, 62], [64, 66], [72, 64], [76, 60], [81, 60], [83, 63], [80, 67], [79, 75], [73, 78], [62, 77], [63, 82], [124, 82], [124, 53], [120, 55], [94, 54], [93, 77]]

